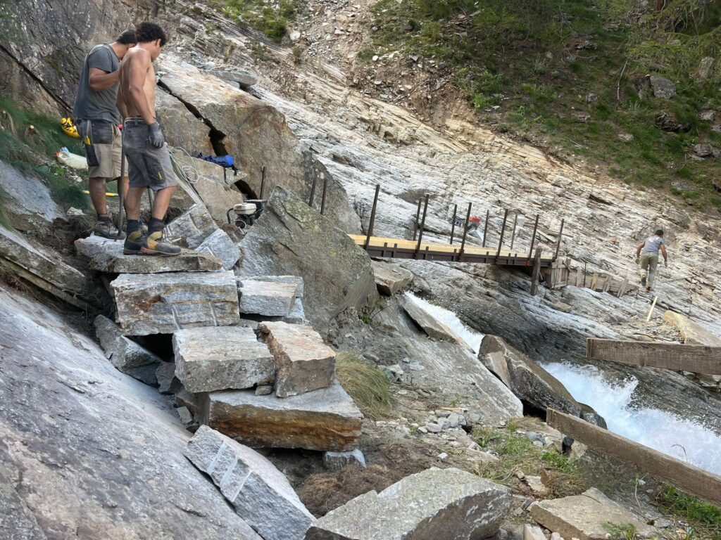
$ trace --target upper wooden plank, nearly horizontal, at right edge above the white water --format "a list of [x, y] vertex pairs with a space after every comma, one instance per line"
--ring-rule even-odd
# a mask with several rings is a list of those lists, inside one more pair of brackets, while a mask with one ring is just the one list
[[586, 356], [593, 360], [661, 367], [674, 372], [721, 374], [721, 347], [707, 345], [588, 338]]

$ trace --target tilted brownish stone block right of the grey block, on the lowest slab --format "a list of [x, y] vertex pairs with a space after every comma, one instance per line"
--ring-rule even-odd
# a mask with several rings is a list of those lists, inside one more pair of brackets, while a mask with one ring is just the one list
[[288, 397], [329, 387], [335, 378], [335, 351], [311, 326], [260, 323], [275, 358], [275, 395]]

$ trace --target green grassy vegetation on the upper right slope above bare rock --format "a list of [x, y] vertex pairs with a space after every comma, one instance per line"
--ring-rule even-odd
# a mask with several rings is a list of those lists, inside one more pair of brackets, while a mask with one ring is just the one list
[[[697, 143], [721, 148], [721, 128], [699, 120], [704, 109], [721, 114], [721, 4], [667, 0], [660, 11], [653, 4], [380, 0], [373, 44], [376, 54], [402, 50], [433, 60], [479, 119], [502, 132], [721, 210], [721, 161], [690, 155]], [[717, 60], [702, 80], [707, 57]], [[647, 74], [671, 79], [678, 94], [640, 98], [636, 85]], [[677, 132], [658, 125], [663, 113], [681, 126]]]

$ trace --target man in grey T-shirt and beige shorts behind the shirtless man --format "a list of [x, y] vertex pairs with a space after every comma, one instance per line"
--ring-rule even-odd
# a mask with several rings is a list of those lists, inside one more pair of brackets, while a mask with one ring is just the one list
[[[125, 238], [123, 233], [118, 234], [107, 212], [105, 184], [120, 178], [122, 143], [118, 125], [122, 114], [118, 109], [118, 70], [120, 60], [135, 44], [135, 30], [126, 30], [110, 45], [92, 48], [85, 57], [73, 106], [88, 162], [90, 199], [97, 212], [94, 233], [105, 238]], [[127, 193], [128, 176], [122, 183], [118, 189]]]

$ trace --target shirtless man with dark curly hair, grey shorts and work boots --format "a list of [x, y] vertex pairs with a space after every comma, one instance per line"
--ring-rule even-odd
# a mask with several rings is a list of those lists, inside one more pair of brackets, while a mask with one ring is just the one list
[[[129, 255], [178, 255], [180, 247], [163, 242], [164, 217], [177, 179], [170, 153], [155, 117], [155, 70], [153, 61], [167, 42], [165, 32], [152, 22], [136, 28], [138, 45], [120, 63], [120, 94], [128, 118], [123, 122], [123, 145], [128, 157], [128, 236], [123, 253]], [[153, 190], [152, 217], [148, 233], [140, 225], [140, 201], [143, 191]]]

